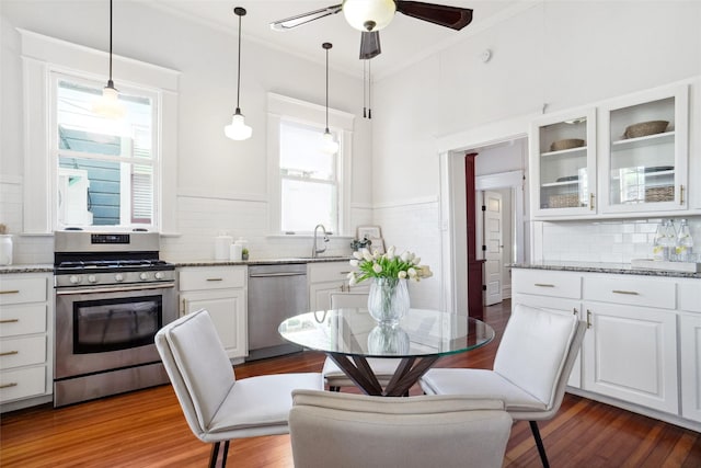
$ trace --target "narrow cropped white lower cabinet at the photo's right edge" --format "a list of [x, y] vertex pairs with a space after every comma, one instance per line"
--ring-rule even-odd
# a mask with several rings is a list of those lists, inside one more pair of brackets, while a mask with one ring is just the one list
[[680, 279], [679, 359], [681, 415], [701, 422], [701, 282]]

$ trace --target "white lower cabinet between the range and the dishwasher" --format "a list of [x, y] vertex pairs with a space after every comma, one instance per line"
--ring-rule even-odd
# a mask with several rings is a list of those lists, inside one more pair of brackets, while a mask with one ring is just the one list
[[181, 316], [207, 309], [229, 358], [248, 355], [246, 267], [185, 267], [179, 272]]

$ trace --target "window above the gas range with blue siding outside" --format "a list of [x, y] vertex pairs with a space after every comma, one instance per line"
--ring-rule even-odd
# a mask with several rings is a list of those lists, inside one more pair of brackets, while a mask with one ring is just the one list
[[152, 226], [158, 187], [154, 99], [120, 92], [125, 116], [92, 112], [101, 83], [56, 75], [57, 221], [68, 226]]

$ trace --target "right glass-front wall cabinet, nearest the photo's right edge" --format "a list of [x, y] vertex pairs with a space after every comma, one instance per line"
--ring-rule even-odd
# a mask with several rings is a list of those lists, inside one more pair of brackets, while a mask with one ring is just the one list
[[600, 109], [600, 212], [687, 207], [688, 87], [654, 90]]

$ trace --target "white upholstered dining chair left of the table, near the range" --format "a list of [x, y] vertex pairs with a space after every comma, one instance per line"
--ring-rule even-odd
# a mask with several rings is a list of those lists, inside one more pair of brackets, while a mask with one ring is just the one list
[[323, 390], [321, 374], [276, 374], [237, 379], [217, 330], [206, 310], [184, 316], [156, 334], [163, 365], [192, 432], [212, 443], [214, 467], [225, 442], [286, 434], [295, 389]]

